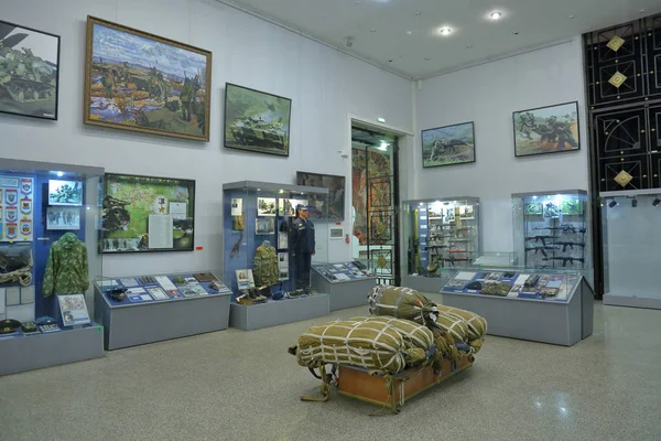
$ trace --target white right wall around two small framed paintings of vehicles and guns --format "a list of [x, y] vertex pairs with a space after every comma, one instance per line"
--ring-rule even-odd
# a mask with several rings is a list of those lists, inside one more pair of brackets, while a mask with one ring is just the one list
[[[415, 198], [478, 196], [483, 248], [512, 250], [510, 195], [587, 190], [581, 39], [422, 82], [415, 97]], [[514, 158], [512, 111], [578, 101], [581, 151]], [[475, 121], [476, 162], [422, 168], [420, 130]]]

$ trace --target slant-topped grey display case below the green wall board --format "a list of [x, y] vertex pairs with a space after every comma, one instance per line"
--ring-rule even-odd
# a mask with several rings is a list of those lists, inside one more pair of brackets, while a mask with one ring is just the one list
[[[178, 280], [178, 277], [183, 277], [184, 280], [188, 278], [189, 282], [185, 287], [177, 286], [174, 281]], [[128, 293], [121, 301], [113, 300], [107, 293], [112, 287], [126, 288], [128, 279], [141, 278], [148, 282], [129, 289], [142, 289], [144, 292]], [[155, 283], [151, 281], [152, 279]], [[227, 288], [220, 291], [210, 290], [209, 281], [193, 282], [191, 279], [195, 279], [193, 273], [127, 276], [97, 280], [95, 282], [96, 320], [105, 326], [106, 349], [226, 330], [229, 323], [231, 292]], [[177, 287], [176, 291], [181, 297], [169, 292], [173, 291], [169, 289], [169, 283]], [[221, 282], [219, 284], [223, 286]], [[167, 299], [158, 300], [158, 297], [163, 294], [155, 294], [156, 288], [165, 293]], [[189, 297], [185, 297], [185, 293]], [[145, 298], [139, 300], [137, 295]], [[136, 298], [131, 300], [132, 297]]]

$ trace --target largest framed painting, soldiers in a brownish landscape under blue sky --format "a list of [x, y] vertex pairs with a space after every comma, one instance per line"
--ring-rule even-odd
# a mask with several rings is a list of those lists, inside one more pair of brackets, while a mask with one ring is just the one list
[[87, 20], [85, 123], [209, 140], [212, 53]]

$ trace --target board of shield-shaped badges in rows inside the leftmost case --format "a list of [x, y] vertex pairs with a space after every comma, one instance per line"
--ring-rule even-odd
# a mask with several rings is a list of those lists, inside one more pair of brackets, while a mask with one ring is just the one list
[[0, 175], [0, 241], [32, 241], [32, 178]]

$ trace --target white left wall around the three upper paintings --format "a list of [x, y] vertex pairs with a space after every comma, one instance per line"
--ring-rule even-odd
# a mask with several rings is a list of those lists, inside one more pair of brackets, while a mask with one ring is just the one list
[[[0, 0], [2, 20], [59, 34], [59, 120], [0, 115], [0, 157], [97, 165], [109, 172], [197, 180], [192, 254], [122, 255], [104, 260], [106, 275], [221, 269], [223, 183], [295, 183], [297, 170], [343, 174], [350, 185], [347, 115], [412, 127], [411, 83], [214, 0]], [[87, 14], [213, 52], [210, 142], [184, 141], [83, 125]], [[292, 98], [289, 158], [223, 147], [225, 83]], [[350, 187], [346, 192], [350, 232]], [[350, 258], [333, 241], [330, 260]]]

